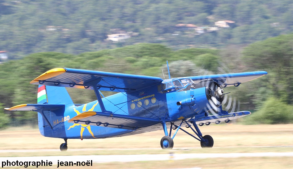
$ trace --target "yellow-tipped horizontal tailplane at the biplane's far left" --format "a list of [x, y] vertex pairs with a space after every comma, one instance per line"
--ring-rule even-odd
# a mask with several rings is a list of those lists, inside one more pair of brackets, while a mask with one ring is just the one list
[[5, 109], [9, 111], [38, 111], [40, 109], [52, 111], [64, 106], [65, 104], [21, 104]]

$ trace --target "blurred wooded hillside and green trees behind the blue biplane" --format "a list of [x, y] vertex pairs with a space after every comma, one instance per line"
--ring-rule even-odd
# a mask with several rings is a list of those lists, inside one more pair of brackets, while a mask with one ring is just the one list
[[36, 103], [29, 82], [47, 70], [163, 78], [166, 60], [171, 77], [265, 70], [225, 89], [253, 113], [239, 123], [293, 123], [292, 16], [288, 0], [0, 0], [0, 129], [37, 125], [36, 113], [3, 108]]

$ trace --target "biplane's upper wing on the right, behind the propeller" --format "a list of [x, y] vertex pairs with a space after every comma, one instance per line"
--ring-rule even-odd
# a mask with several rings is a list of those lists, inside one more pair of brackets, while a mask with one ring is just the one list
[[228, 73], [218, 75], [207, 75], [207, 76], [191, 76], [194, 83], [198, 83], [205, 79], [213, 79], [220, 85], [226, 86], [237, 86], [241, 83], [251, 81], [268, 74], [266, 71], [255, 71], [255, 72], [243, 72], [243, 73]]

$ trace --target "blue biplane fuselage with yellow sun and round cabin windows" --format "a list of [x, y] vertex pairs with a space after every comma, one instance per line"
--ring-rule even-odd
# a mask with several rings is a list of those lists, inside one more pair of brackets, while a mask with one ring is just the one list
[[[192, 107], [196, 105], [196, 101], [193, 99], [196, 89], [190, 90], [191, 86], [194, 86], [191, 79], [173, 78], [164, 80], [159, 85], [139, 91], [131, 93], [120, 92], [105, 97], [102, 101], [105, 109], [115, 114], [160, 119], [165, 122], [176, 122], [182, 119], [192, 118], [195, 114], [201, 113], [198, 112], [199, 109], [194, 110], [194, 107]], [[206, 98], [205, 87], [202, 87], [202, 90], [203, 91], [199, 93], [204, 93], [201, 95]], [[180, 104], [178, 104], [179, 102]], [[43, 133], [41, 129], [40, 131], [42, 135], [47, 137], [79, 139], [107, 138], [139, 133], [134, 132], [134, 130], [68, 123], [69, 119], [86, 111], [100, 112], [101, 108], [98, 101], [93, 101], [81, 106], [76, 106], [73, 103], [67, 104], [65, 106], [64, 116], [57, 116], [51, 119], [53, 129], [43, 129], [47, 130], [47, 132]], [[43, 124], [43, 126], [45, 126], [45, 124]], [[156, 128], [155, 130], [161, 129], [162, 128]], [[48, 132], [49, 130], [52, 131], [52, 134]]]

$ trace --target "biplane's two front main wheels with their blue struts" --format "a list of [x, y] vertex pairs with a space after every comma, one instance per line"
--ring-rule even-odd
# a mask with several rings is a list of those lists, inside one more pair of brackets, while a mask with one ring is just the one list
[[[185, 122], [188, 125], [188, 128], [191, 128], [191, 130], [193, 130], [193, 132], [197, 135], [198, 138], [196, 136], [188, 133], [183, 128], [181, 128], [181, 125], [183, 124], [183, 122]], [[192, 123], [195, 129], [192, 128], [192, 126], [188, 122]], [[213, 140], [212, 136], [210, 136], [210, 135], [202, 136], [202, 133], [200, 132], [200, 129], [198, 128], [197, 124], [195, 123], [195, 121], [193, 119], [190, 119], [189, 121], [183, 120], [179, 126], [171, 123], [169, 133], [168, 133], [168, 130], [167, 130], [166, 123], [162, 123], [162, 125], [163, 125], [163, 129], [164, 129], [164, 132], [165, 132], [165, 136], [161, 139], [161, 148], [162, 149], [172, 149], [173, 148], [173, 145], [174, 145], [173, 138], [175, 137], [175, 135], [177, 134], [179, 129], [184, 131], [188, 135], [192, 136], [193, 138], [199, 140], [200, 145], [201, 145], [202, 148], [206, 148], [206, 147], [211, 148], [214, 145], [214, 140]], [[174, 135], [173, 135], [173, 137], [171, 137], [172, 129], [176, 130]]]

